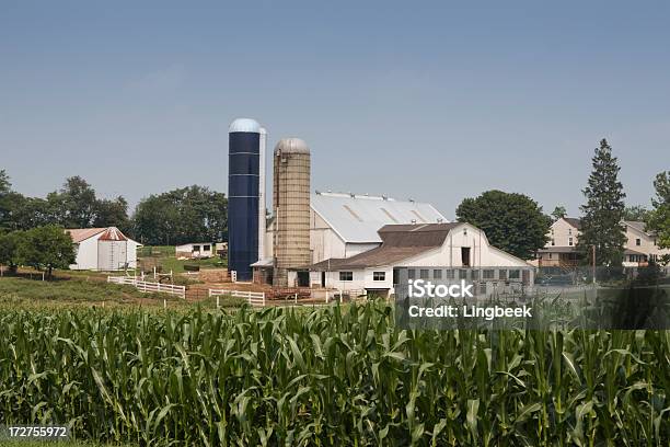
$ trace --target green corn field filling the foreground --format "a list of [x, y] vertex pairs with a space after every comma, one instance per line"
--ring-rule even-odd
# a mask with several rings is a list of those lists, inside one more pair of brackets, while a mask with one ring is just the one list
[[670, 443], [670, 331], [403, 331], [367, 303], [1, 310], [0, 340], [0, 424], [97, 442]]

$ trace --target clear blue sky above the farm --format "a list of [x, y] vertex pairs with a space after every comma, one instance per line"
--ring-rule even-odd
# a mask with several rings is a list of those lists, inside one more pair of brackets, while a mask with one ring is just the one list
[[[629, 204], [670, 169], [668, 2], [0, 0], [0, 169], [136, 204], [228, 188], [239, 116], [312, 149], [313, 188], [570, 214], [607, 137]], [[540, 4], [542, 3], [542, 4]]]

